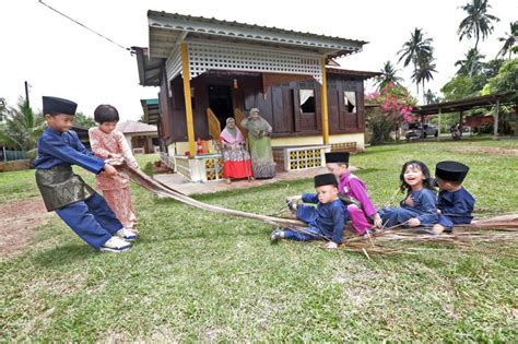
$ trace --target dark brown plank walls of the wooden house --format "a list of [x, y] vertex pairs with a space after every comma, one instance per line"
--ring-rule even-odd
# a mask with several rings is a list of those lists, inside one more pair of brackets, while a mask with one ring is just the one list
[[[237, 85], [234, 80], [236, 80]], [[260, 73], [210, 72], [191, 80], [193, 92], [195, 139], [209, 140], [207, 108], [209, 107], [209, 86], [226, 85], [231, 87], [234, 108], [248, 112], [259, 108], [261, 116], [272, 126], [272, 137], [299, 137], [321, 134], [321, 86], [316, 81], [299, 81], [272, 86], [262, 91]], [[168, 94], [170, 87], [172, 97]], [[237, 86], [237, 87], [235, 87]], [[301, 88], [315, 91], [315, 114], [302, 114], [299, 106]], [[356, 92], [356, 112], [345, 109], [343, 92]], [[163, 137], [168, 143], [187, 141], [184, 88], [180, 76], [169, 85], [162, 85], [160, 93], [163, 121]], [[165, 104], [165, 105], [164, 105]], [[357, 133], [365, 129], [363, 80], [342, 74], [328, 74], [328, 109], [331, 134]], [[168, 114], [168, 116], [164, 116]], [[228, 117], [233, 114], [228, 114]]]

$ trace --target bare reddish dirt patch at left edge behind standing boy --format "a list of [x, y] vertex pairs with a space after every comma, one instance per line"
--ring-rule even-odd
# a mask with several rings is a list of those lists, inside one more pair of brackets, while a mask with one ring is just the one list
[[40, 198], [0, 204], [0, 253], [20, 253], [34, 237], [35, 229], [50, 220]]

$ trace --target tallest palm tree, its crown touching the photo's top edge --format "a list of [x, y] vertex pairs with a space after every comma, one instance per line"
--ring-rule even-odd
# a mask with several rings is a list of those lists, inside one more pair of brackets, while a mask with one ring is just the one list
[[487, 4], [487, 0], [471, 0], [462, 5], [461, 9], [468, 12], [468, 16], [464, 17], [459, 25], [457, 34], [460, 34], [459, 40], [466, 36], [468, 39], [475, 37], [476, 49], [479, 47], [479, 39], [482, 35], [482, 40], [485, 39], [493, 32], [493, 23], [498, 22], [499, 19], [487, 13], [487, 9], [491, 9], [491, 4]]

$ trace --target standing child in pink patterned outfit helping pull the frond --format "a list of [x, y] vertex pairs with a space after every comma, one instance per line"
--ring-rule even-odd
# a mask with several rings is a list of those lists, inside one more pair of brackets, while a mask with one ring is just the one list
[[[99, 105], [94, 111], [97, 128], [89, 130], [90, 144], [95, 156], [104, 158], [107, 163], [126, 161], [128, 166], [139, 168], [137, 161], [125, 135], [116, 130], [119, 112], [111, 105]], [[103, 195], [117, 218], [126, 228], [134, 229], [137, 217], [131, 202], [129, 176], [118, 173], [115, 176], [96, 176], [97, 187], [103, 190]]]

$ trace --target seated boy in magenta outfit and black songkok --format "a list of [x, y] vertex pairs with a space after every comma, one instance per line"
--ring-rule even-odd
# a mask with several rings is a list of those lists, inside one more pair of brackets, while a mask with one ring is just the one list
[[[326, 167], [339, 180], [340, 198], [346, 205], [353, 228], [357, 235], [365, 235], [374, 227], [381, 227], [381, 217], [367, 194], [367, 186], [349, 170], [349, 153], [326, 153]], [[370, 220], [367, 220], [367, 217]]]

